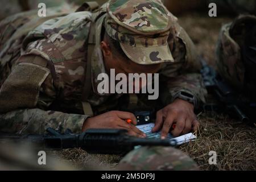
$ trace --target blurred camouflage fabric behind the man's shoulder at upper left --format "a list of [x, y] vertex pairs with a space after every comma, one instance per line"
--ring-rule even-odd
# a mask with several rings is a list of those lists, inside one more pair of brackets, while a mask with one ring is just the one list
[[24, 37], [48, 19], [63, 16], [75, 11], [76, 7], [63, 4], [48, 8], [46, 17], [39, 17], [37, 10], [19, 13], [3, 19], [0, 23], [0, 86], [10, 74], [20, 56]]

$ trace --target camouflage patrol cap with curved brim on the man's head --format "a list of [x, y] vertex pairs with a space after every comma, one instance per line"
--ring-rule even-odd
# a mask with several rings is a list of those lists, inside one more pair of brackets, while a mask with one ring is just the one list
[[174, 61], [167, 43], [171, 18], [160, 1], [110, 0], [105, 28], [137, 64]]

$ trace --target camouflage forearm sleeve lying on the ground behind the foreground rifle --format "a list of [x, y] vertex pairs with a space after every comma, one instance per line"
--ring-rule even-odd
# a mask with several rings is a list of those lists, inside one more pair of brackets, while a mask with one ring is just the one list
[[81, 133], [86, 115], [67, 114], [42, 109], [19, 109], [0, 114], [0, 129], [5, 133], [44, 134], [48, 127], [64, 132]]

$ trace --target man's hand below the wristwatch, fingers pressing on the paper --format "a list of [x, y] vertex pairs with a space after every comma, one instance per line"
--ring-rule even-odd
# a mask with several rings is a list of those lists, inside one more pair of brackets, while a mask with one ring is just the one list
[[196, 131], [199, 127], [199, 122], [194, 113], [194, 106], [184, 100], [176, 99], [172, 104], [167, 105], [156, 113], [155, 127], [152, 132], [161, 130], [161, 138], [167, 137], [173, 124], [176, 124], [175, 129], [171, 130], [174, 137], [180, 134], [187, 134], [191, 129]]

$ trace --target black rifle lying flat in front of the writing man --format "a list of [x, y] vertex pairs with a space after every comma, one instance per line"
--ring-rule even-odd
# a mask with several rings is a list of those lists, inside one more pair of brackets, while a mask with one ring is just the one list
[[56, 130], [48, 128], [47, 133], [46, 135], [0, 134], [0, 141], [26, 141], [40, 150], [80, 147], [91, 154], [126, 154], [135, 146], [176, 146], [175, 139], [131, 137], [127, 135], [126, 130], [118, 129], [88, 129], [81, 134], [73, 134], [71, 130], [67, 129], [64, 134], [60, 134]]

